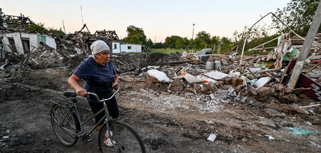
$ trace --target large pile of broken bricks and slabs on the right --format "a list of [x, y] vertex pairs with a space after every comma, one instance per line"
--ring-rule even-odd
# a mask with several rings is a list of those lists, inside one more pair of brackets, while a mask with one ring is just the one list
[[[320, 33], [317, 36], [320, 36]], [[317, 37], [315, 42], [318, 46], [320, 37]], [[281, 48], [286, 48], [284, 51], [294, 51], [291, 48], [298, 48], [297, 46], [300, 45], [302, 44], [298, 41], [295, 42], [295, 46], [279, 44]], [[287, 60], [280, 60], [280, 58], [285, 59], [284, 57], [290, 52], [282, 54], [282, 57], [269, 58], [268, 67], [258, 64], [263, 58], [267, 60], [266, 57], [273, 55], [275, 51], [267, 56], [245, 56], [242, 65], [240, 65], [239, 56], [213, 55], [206, 51], [197, 52], [194, 55], [188, 54], [185, 59], [170, 62], [170, 65], [148, 67], [149, 70], [156, 69], [165, 73], [169, 80], [164, 82], [159, 79], [161, 76], [145, 74], [146, 88], [185, 97], [193, 95], [194, 97], [190, 96], [190, 98], [208, 107], [218, 106], [220, 103], [237, 102], [253, 105], [258, 102], [260, 105], [255, 107], [259, 107], [260, 115], [266, 117], [300, 115], [312, 124], [320, 125], [321, 109], [317, 107], [320, 106], [321, 100], [321, 68], [317, 68], [317, 63], [320, 63], [321, 59], [320, 48], [312, 46], [311, 50], [311, 57], [305, 64], [297, 86], [293, 90], [287, 89], [287, 82], [298, 54]], [[300, 48], [297, 51], [300, 53]], [[207, 60], [202, 59], [203, 56], [208, 56]], [[209, 67], [208, 64], [213, 66]], [[218, 66], [215, 66], [216, 64]], [[213, 110], [201, 110], [213, 112]]]

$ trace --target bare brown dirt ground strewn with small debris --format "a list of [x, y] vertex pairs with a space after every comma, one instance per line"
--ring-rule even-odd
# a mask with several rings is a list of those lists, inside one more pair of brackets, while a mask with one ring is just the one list
[[[0, 71], [0, 152], [98, 152], [98, 132], [92, 142], [64, 147], [51, 128], [49, 100], [66, 100], [69, 73], [60, 66]], [[295, 114], [265, 117], [260, 107], [272, 106], [255, 99], [206, 102], [208, 95], [162, 92], [127, 76], [120, 84], [119, 118], [141, 134], [147, 152], [320, 152], [320, 134], [300, 137], [286, 128], [320, 133], [320, 115], [313, 124]], [[82, 117], [91, 116], [86, 100], [78, 100]], [[214, 142], [207, 140], [212, 133]]]

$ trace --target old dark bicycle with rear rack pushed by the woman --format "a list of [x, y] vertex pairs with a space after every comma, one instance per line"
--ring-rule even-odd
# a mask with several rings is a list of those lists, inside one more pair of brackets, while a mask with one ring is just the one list
[[[71, 102], [54, 102], [50, 112], [51, 126], [53, 127], [54, 133], [59, 141], [67, 147], [71, 147], [76, 144], [79, 138], [81, 138], [83, 142], [91, 142], [91, 132], [93, 132], [98, 125], [101, 125], [101, 123], [104, 122], [98, 134], [98, 146], [101, 152], [146, 152], [139, 134], [133, 130], [131, 126], [117, 121], [109, 115], [108, 107], [105, 102], [107, 100], [111, 100], [118, 91], [119, 88], [113, 95], [111, 95], [111, 97], [102, 100], [99, 100], [99, 97], [95, 93], [88, 92], [88, 95], [96, 97], [98, 102], [103, 102], [103, 109], [84, 122], [81, 121], [81, 117], [78, 112], [76, 92], [63, 92], [63, 95], [66, 97], [72, 97]], [[105, 117], [94, 125], [89, 132], [86, 132], [83, 125], [93, 119], [96, 115], [103, 112], [105, 112]], [[111, 135], [109, 138], [111, 139], [113, 147], [107, 147], [106, 144], [103, 143], [106, 132], [108, 132], [108, 136]]]

